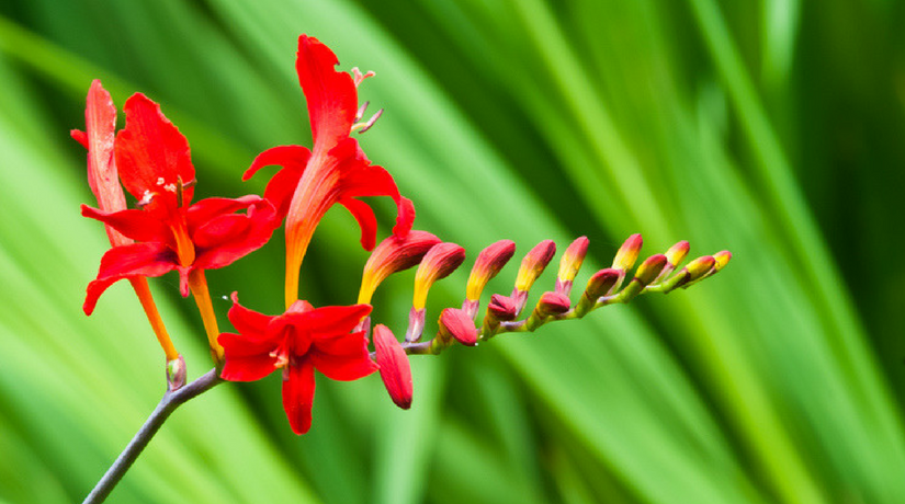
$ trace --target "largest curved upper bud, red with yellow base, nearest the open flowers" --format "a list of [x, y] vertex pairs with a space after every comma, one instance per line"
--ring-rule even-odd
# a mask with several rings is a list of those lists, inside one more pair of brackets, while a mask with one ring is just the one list
[[359, 305], [371, 302], [374, 290], [389, 275], [415, 266], [440, 239], [427, 231], [410, 231], [405, 238], [391, 234], [371, 253], [364, 264]]

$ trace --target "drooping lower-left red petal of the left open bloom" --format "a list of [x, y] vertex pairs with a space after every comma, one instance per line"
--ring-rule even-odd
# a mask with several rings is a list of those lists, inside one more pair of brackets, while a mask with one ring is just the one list
[[88, 284], [82, 309], [94, 311], [98, 298], [114, 282], [131, 276], [160, 276], [176, 270], [176, 255], [162, 243], [132, 243], [114, 247], [101, 257], [98, 278]]

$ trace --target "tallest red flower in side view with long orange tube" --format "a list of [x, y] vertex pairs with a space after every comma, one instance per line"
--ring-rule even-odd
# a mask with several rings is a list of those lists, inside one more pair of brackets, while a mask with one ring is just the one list
[[337, 71], [338, 60], [317, 38], [298, 37], [295, 68], [308, 104], [314, 147], [280, 146], [258, 156], [245, 174], [249, 179], [260, 168], [283, 167], [270, 183], [264, 197], [286, 218], [286, 306], [298, 299], [298, 271], [314, 230], [335, 204], [344, 206], [361, 227], [361, 244], [374, 248], [377, 221], [371, 207], [358, 199], [389, 196], [398, 206], [394, 234], [411, 229], [415, 210], [399, 195], [393, 176], [371, 164], [358, 140], [350, 138], [358, 121], [358, 84], [363, 80]]

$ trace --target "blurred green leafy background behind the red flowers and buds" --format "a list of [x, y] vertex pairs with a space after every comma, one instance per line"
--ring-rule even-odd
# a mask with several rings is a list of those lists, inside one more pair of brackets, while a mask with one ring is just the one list
[[[267, 176], [240, 181], [258, 152], [310, 145], [293, 67], [308, 33], [341, 68], [376, 71], [361, 94], [386, 113], [364, 149], [416, 226], [470, 260], [502, 238], [525, 252], [587, 234], [582, 285], [643, 232], [648, 254], [687, 239], [733, 262], [687, 291], [415, 358], [409, 412], [376, 376], [319, 379], [296, 437], [279, 378], [220, 386], [112, 502], [903, 502], [903, 22], [905, 3], [882, 0], [3, 2], [0, 501], [80, 501], [162, 393], [128, 286], [81, 312], [108, 248], [79, 216], [92, 197], [68, 135], [91, 80], [120, 107], [136, 91], [161, 104], [197, 198], [260, 193]], [[385, 236], [393, 205], [374, 205]], [[304, 297], [354, 301], [358, 239], [327, 216]], [[279, 234], [208, 273], [224, 329], [233, 290], [282, 311], [282, 253]], [[462, 270], [429, 322], [461, 302]], [[374, 301], [397, 334], [411, 278]], [[172, 276], [152, 286], [196, 377], [196, 310]]]

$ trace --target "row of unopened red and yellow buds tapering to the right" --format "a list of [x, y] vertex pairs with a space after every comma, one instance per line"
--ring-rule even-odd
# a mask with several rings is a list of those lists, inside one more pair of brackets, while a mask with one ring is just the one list
[[[610, 267], [591, 275], [580, 298], [573, 305], [569, 296], [585, 261], [588, 243], [587, 237], [580, 237], [569, 244], [559, 261], [554, 289], [543, 293], [530, 313], [523, 317], [531, 287], [556, 254], [556, 244], [552, 240], [544, 240], [531, 249], [522, 259], [512, 294], [491, 295], [484, 318], [477, 323], [485, 287], [516, 253], [516, 243], [510, 240], [487, 247], [472, 267], [462, 308], [443, 309], [437, 334], [431, 340], [422, 341], [428, 290], [435, 280], [449, 276], [463, 263], [465, 251], [454, 243], [441, 242], [425, 231], [412, 231], [406, 238], [392, 236], [384, 240], [365, 264], [359, 302], [370, 302], [377, 286], [391, 274], [418, 264], [405, 340], [397, 340], [386, 325], [378, 324], [374, 329], [375, 351], [371, 355], [381, 367], [381, 377], [393, 401], [403, 409], [411, 405], [408, 354], [437, 355], [456, 343], [476, 346], [478, 342], [501, 333], [531, 332], [553, 321], [580, 319], [597, 308], [629, 302], [645, 293], [667, 294], [688, 288], [720, 272], [732, 259], [728, 251], [722, 251], [694, 259], [678, 270], [689, 252], [689, 243], [680, 241], [665, 253], [654, 254], [635, 267], [642, 238], [641, 234], [633, 234], [619, 249]], [[370, 323], [370, 318], [365, 318], [358, 329], [367, 331]]]

